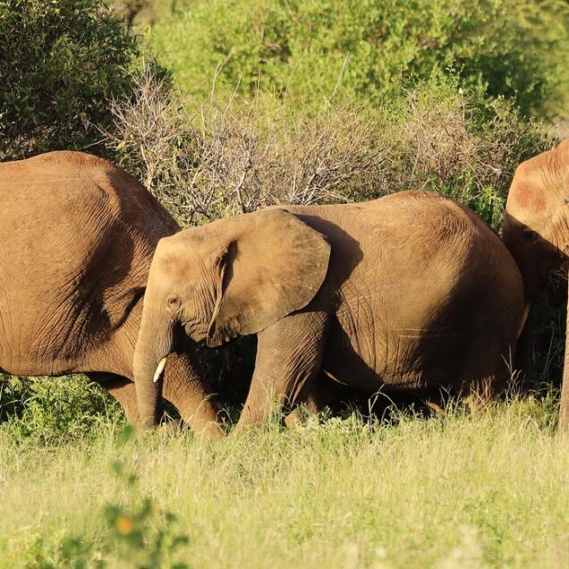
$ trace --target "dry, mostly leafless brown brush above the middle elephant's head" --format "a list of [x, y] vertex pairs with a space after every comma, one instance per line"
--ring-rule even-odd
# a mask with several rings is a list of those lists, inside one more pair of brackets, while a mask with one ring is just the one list
[[375, 120], [355, 106], [315, 115], [270, 96], [212, 101], [191, 115], [147, 69], [134, 97], [111, 106], [107, 145], [183, 224], [278, 203], [346, 200], [372, 191], [382, 145]]

